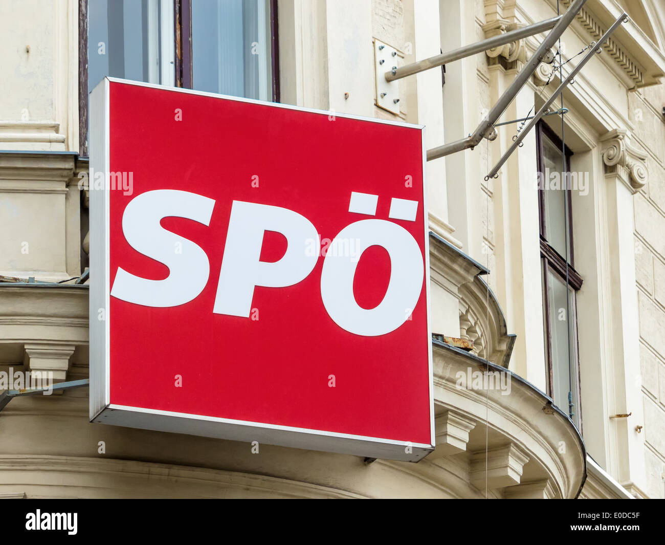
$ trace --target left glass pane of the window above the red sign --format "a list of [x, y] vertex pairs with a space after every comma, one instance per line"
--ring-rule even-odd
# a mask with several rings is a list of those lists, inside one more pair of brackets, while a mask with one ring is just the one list
[[88, 92], [104, 76], [175, 85], [174, 0], [88, 0]]

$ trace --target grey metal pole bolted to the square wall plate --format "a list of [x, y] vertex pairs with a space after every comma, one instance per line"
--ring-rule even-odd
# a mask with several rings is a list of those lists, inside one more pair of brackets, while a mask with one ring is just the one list
[[493, 36], [483, 41], [469, 45], [463, 45], [458, 49], [453, 49], [453, 51], [447, 51], [446, 53], [435, 55], [429, 59], [423, 59], [417, 63], [412, 63], [398, 69], [389, 70], [386, 72], [386, 81], [395, 81], [396, 79], [405, 78], [407, 76], [429, 70], [430, 68], [440, 67], [441, 65], [452, 63], [452, 61], [459, 61], [465, 57], [475, 55], [475, 53], [481, 53], [482, 51], [487, 51], [488, 49], [494, 49], [495, 47], [499, 47], [499, 45], [506, 45], [507, 43], [533, 36], [534, 34], [549, 31], [550, 29], [554, 28], [554, 25], [557, 24], [559, 19], [561, 19], [561, 15], [558, 17], [552, 17], [551, 19], [545, 19], [545, 21], [534, 23], [528, 27], [523, 27], [521, 29], [507, 32], [505, 34]]

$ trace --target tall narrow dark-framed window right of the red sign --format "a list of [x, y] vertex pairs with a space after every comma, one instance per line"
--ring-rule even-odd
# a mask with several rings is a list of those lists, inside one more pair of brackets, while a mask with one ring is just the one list
[[572, 152], [543, 122], [536, 132], [539, 174], [540, 250], [547, 390], [555, 405], [579, 426], [579, 365], [570, 157]]

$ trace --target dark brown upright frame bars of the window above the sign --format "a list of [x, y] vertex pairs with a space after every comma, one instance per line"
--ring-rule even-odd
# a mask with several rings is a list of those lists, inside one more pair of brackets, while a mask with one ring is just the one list
[[[270, 0], [273, 102], [279, 102], [277, 0]], [[174, 0], [176, 86], [192, 89], [192, 0]], [[78, 0], [78, 155], [88, 156], [88, 0]]]

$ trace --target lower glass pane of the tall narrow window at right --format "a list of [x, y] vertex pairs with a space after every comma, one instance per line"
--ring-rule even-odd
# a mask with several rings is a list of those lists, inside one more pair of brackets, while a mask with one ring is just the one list
[[[563, 412], [569, 412], [568, 393], [573, 392], [573, 412], [577, 413], [577, 366], [575, 365], [575, 291], [559, 275], [547, 273], [549, 327], [552, 352], [553, 399]], [[568, 308], [566, 307], [568, 296]], [[570, 316], [568, 315], [570, 313]], [[570, 335], [570, 349], [568, 342]]]

